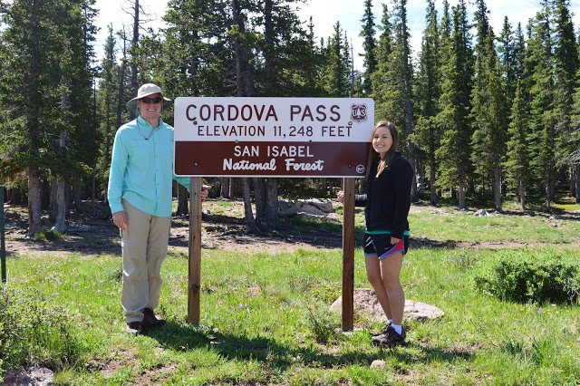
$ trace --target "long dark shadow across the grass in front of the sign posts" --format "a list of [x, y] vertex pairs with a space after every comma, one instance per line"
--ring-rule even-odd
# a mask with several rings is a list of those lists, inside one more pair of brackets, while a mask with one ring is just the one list
[[[394, 356], [402, 367], [413, 366], [416, 362], [454, 362], [458, 358], [470, 360], [472, 353], [467, 351], [425, 347], [417, 342], [409, 342], [406, 347], [382, 348], [373, 346], [369, 335], [369, 348], [362, 351], [324, 352], [324, 346], [299, 346], [278, 343], [267, 337], [248, 338], [242, 334], [220, 333], [215, 330], [196, 328], [179, 323], [167, 323], [162, 329], [147, 334], [158, 341], [164, 348], [175, 351], [189, 351], [206, 348], [218, 352], [228, 360], [257, 361], [280, 371], [296, 365], [295, 358], [300, 357], [304, 366], [333, 369], [350, 364], [369, 366], [374, 360], [386, 355]], [[349, 339], [340, 338], [339, 339]]]

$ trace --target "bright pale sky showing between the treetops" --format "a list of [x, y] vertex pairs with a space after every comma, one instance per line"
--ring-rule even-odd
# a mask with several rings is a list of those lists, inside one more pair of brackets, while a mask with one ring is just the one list
[[[100, 10], [100, 15], [96, 21], [97, 26], [101, 27], [97, 35], [95, 51], [97, 60], [101, 61], [102, 44], [107, 35], [107, 25], [112, 23], [113, 30], [117, 31], [122, 24], [131, 25], [131, 18], [122, 8], [121, 3], [128, 4], [126, 1], [119, 0], [97, 0], [96, 7]], [[382, 18], [382, 3], [389, 5], [390, 1], [372, 0], [372, 12], [375, 15], [375, 21], [380, 23]], [[438, 10], [441, 12], [442, 0], [436, 0]], [[457, 0], [449, 0], [449, 5], [456, 5]], [[470, 16], [473, 15], [474, 7], [469, 5], [468, 11]], [[529, 18], [534, 17], [540, 10], [540, 0], [488, 0], [487, 2], [489, 22], [496, 34], [501, 32], [504, 16], [507, 16], [513, 28], [516, 28], [518, 22], [524, 28]], [[140, 0], [145, 11], [150, 14], [150, 26], [158, 28], [162, 25], [161, 17], [166, 12], [167, 0]], [[361, 19], [364, 12], [363, 0], [309, 0], [307, 4], [299, 5], [298, 15], [304, 24], [307, 23], [310, 16], [314, 20], [314, 34], [320, 39], [333, 34], [333, 25], [340, 22], [343, 31], [346, 32], [349, 39], [353, 42], [354, 50], [354, 67], [362, 71], [362, 58], [358, 55], [361, 52], [362, 40], [359, 36], [361, 31]], [[425, 8], [424, 0], [408, 0], [407, 12], [409, 17], [409, 27], [411, 30], [411, 46], [414, 53], [420, 49], [420, 35], [425, 28]], [[574, 14], [575, 29], [580, 28], [580, 0], [570, 0], [570, 9]]]

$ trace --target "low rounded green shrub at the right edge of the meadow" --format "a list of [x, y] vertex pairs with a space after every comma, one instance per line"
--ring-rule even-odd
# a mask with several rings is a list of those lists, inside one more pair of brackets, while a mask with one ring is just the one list
[[519, 303], [564, 303], [578, 299], [579, 272], [556, 252], [501, 251], [475, 282], [485, 292]]

